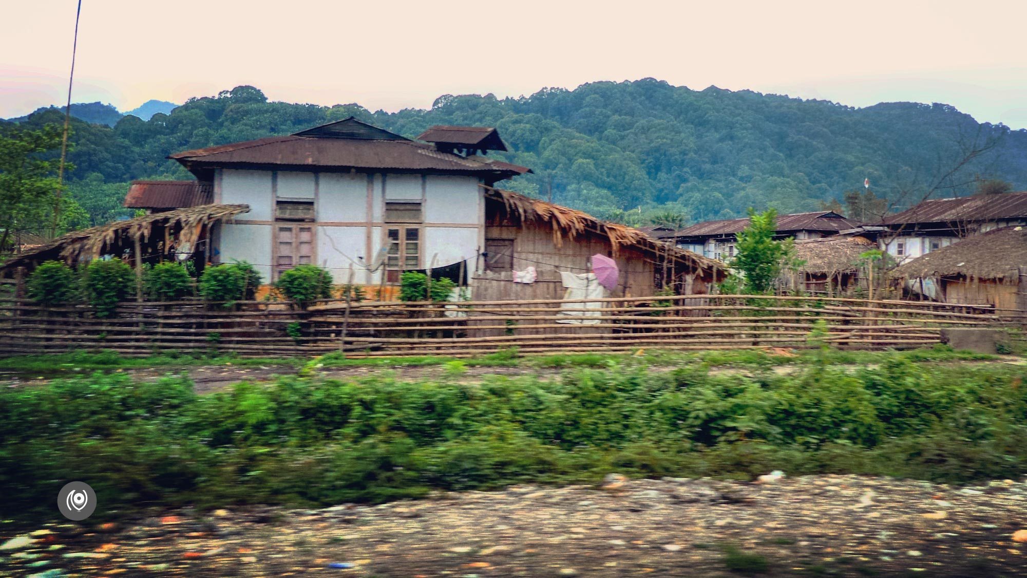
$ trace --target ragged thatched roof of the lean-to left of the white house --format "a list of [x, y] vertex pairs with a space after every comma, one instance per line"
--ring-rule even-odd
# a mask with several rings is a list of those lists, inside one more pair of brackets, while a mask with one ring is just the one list
[[0, 269], [11, 269], [49, 259], [61, 259], [68, 262], [96, 259], [109, 253], [120, 242], [134, 242], [136, 239], [145, 242], [154, 225], [177, 226], [179, 227], [177, 236], [179, 245], [195, 246], [204, 225], [248, 211], [250, 211], [249, 205], [201, 205], [164, 213], [153, 213], [126, 221], [115, 221], [106, 225], [69, 232], [28, 253], [17, 255], [0, 265]]

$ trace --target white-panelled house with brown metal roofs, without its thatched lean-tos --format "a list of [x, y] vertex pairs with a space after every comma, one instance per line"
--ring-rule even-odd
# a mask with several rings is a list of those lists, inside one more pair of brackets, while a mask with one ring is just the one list
[[480, 185], [530, 171], [482, 154], [506, 150], [494, 129], [434, 127], [419, 139], [350, 117], [180, 152], [169, 158], [197, 181], [134, 183], [125, 205], [248, 205], [215, 228], [210, 258], [249, 261], [271, 282], [304, 263], [329, 268], [339, 283], [352, 268], [366, 285], [460, 261], [470, 273], [486, 245]]

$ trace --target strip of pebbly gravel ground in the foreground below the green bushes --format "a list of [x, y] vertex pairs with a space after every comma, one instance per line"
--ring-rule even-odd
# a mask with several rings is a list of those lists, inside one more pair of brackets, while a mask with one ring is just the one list
[[[1027, 576], [1027, 483], [612, 480], [6, 534], [3, 575]], [[8, 547], [14, 541], [15, 547]], [[28, 543], [27, 543], [28, 542]], [[48, 574], [43, 574], [48, 572]]]

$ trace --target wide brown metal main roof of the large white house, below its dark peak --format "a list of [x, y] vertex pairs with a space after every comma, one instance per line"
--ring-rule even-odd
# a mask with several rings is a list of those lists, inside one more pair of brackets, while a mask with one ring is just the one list
[[271, 137], [172, 154], [184, 165], [282, 165], [352, 169], [397, 169], [458, 173], [504, 173], [530, 169], [492, 159], [465, 158], [413, 141]]

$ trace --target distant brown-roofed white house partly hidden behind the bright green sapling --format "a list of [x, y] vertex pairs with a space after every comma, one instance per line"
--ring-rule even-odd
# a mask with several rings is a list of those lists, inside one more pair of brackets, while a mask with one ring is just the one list
[[[833, 211], [777, 215], [775, 239], [796, 241], [820, 239], [857, 227], [859, 223]], [[749, 226], [749, 218], [705, 221], [669, 232], [654, 231], [661, 240], [674, 240], [678, 247], [705, 257], [729, 261], [734, 257], [737, 234]]]

